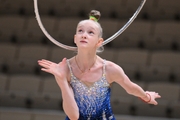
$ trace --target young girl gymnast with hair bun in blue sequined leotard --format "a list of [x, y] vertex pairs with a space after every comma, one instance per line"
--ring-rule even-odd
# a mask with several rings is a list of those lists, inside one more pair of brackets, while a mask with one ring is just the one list
[[74, 36], [76, 56], [58, 64], [38, 61], [43, 71], [54, 75], [61, 89], [66, 120], [115, 120], [110, 105], [113, 82], [149, 104], [157, 105], [155, 99], [160, 98], [158, 93], [144, 91], [131, 82], [120, 66], [96, 54], [103, 43], [99, 17], [100, 13], [93, 10], [90, 19], [78, 23]]

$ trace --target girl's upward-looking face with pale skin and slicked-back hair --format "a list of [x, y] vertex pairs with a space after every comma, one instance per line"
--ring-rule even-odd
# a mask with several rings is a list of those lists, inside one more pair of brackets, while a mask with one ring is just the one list
[[77, 26], [74, 42], [77, 47], [97, 49], [103, 42], [99, 26], [92, 20], [80, 22]]

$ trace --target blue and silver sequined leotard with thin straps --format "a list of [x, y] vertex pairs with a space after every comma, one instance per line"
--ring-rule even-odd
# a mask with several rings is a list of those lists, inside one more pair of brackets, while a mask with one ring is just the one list
[[[91, 87], [80, 82], [73, 74], [67, 60], [71, 74], [71, 87], [79, 108], [79, 120], [115, 120], [110, 105], [110, 85], [105, 77], [105, 60], [103, 62], [103, 75]], [[66, 120], [69, 120], [66, 117]]]

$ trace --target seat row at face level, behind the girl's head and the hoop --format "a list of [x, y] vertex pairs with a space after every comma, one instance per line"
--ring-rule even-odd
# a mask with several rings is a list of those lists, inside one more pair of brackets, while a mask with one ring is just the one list
[[[61, 43], [74, 46], [73, 36], [80, 18], [42, 17], [48, 33]], [[102, 19], [103, 38], [106, 40], [125, 25], [125, 20]], [[68, 25], [68, 26], [67, 26]], [[0, 17], [0, 42], [43, 43], [49, 40], [43, 34], [35, 17]], [[146, 48], [150, 50], [180, 50], [180, 24], [175, 21], [134, 21], [116, 40], [107, 44], [112, 48]]]

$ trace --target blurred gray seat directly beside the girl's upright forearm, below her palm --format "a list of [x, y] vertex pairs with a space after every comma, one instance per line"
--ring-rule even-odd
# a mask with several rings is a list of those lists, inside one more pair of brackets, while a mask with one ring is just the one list
[[35, 96], [33, 108], [62, 109], [61, 91], [54, 77], [44, 77], [42, 90]]

